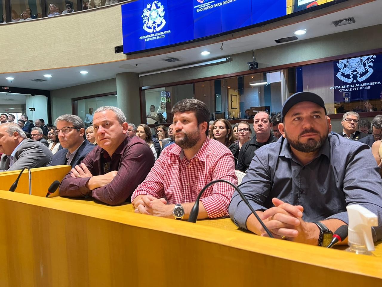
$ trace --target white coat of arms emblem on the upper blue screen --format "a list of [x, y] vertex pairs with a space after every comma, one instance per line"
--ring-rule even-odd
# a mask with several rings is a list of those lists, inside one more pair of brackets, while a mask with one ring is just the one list
[[143, 29], [149, 33], [160, 31], [166, 24], [164, 15], [164, 7], [159, 1], [147, 4], [142, 14]]

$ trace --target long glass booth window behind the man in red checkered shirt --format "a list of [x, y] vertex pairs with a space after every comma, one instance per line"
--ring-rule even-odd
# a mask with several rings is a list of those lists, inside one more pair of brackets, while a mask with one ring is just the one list
[[281, 111], [282, 72], [154, 88], [142, 91], [146, 100], [146, 123], [171, 123], [173, 104], [185, 98], [206, 103], [211, 119], [250, 119], [257, 111], [274, 115]]

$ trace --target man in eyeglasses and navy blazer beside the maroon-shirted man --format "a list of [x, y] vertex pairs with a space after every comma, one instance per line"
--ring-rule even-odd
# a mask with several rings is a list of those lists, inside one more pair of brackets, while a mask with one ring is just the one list
[[52, 165], [79, 165], [95, 147], [85, 139], [85, 124], [79, 116], [64, 114], [56, 119], [54, 134], [63, 147], [53, 155]]

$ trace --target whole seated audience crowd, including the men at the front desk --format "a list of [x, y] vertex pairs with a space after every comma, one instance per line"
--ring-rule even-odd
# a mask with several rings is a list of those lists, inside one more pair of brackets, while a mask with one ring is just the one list
[[[50, 7], [52, 16], [58, 13]], [[61, 196], [131, 202], [136, 213], [178, 220], [188, 218], [204, 186], [225, 179], [239, 183], [276, 238], [320, 245], [321, 224], [334, 231], [348, 223], [346, 205], [358, 203], [378, 215], [373, 236], [382, 239], [382, 115], [369, 122], [346, 112], [337, 134], [322, 99], [302, 92], [274, 117], [259, 111], [253, 123], [235, 125], [210, 121], [206, 104], [183, 99], [167, 127], [159, 104], [147, 114], [154, 133], [146, 123], [127, 123], [112, 106], [89, 108], [84, 119], [64, 114], [47, 126], [44, 119], [33, 124], [22, 115], [16, 124], [12, 114], [1, 114], [0, 171], [70, 165]], [[197, 218], [224, 216], [265, 233], [237, 192], [215, 183], [202, 194]]]

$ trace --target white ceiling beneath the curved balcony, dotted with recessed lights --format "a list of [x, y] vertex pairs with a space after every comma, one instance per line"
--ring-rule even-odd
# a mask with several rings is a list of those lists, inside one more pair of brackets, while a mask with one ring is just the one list
[[[129, 59], [107, 64], [63, 68], [56, 70], [1, 74], [0, 85], [19, 88], [55, 90], [59, 88], [115, 78], [117, 73], [144, 73], [154, 70], [162, 70], [179, 65], [200, 62], [203, 60], [226, 57], [228, 55], [251, 51], [252, 49], [261, 49], [265, 47], [280, 45], [276, 44], [274, 40], [294, 36], [293, 31], [297, 29], [306, 29], [308, 31], [305, 35], [298, 36], [298, 41], [300, 41], [343, 31], [374, 26], [382, 23], [382, 17], [380, 17], [380, 13], [376, 13], [376, 11], [382, 11], [382, 1], [369, 2], [361, 6], [348, 8], [346, 10], [338, 11], [299, 23], [293, 23], [270, 31], [225, 41], [225, 44], [223, 45], [223, 51], [220, 51], [221, 42], [219, 42], [202, 47], [194, 47], [190, 49], [183, 49], [181, 51], [170, 52], [168, 54], [142, 57], [139, 59]], [[348, 18], [351, 16], [354, 17], [356, 23], [340, 27], [335, 27], [332, 24], [332, 21]], [[210, 51], [211, 54], [208, 56], [200, 55], [200, 52], [205, 50]], [[163, 61], [163, 59], [168, 57], [175, 57], [181, 61], [174, 63]], [[135, 64], [138, 64], [138, 66]], [[79, 73], [81, 70], [87, 70], [89, 73], [87, 75], [81, 75]], [[47, 78], [47, 81], [45, 82], [31, 81], [31, 79], [34, 78], [44, 78], [43, 75], [46, 73], [52, 74], [53, 77]], [[15, 78], [15, 80], [13, 80], [13, 82], [5, 80], [5, 78], [9, 76], [12, 76]]]

